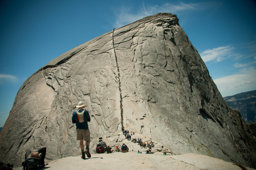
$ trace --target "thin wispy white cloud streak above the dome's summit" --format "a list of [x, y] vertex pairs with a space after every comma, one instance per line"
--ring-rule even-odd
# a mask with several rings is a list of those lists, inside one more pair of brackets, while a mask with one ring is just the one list
[[161, 6], [152, 5], [147, 7], [143, 4], [143, 7], [139, 9], [139, 12], [136, 14], [132, 14], [131, 9], [129, 7], [121, 7], [119, 11], [116, 13], [117, 19], [114, 24], [114, 27], [119, 28], [124, 25], [130, 24], [136, 20], [142, 19], [143, 17], [154, 15], [160, 12], [168, 12], [168, 13], [177, 13], [177, 12], [188, 12], [195, 10], [202, 10], [205, 8], [212, 8], [212, 6], [219, 5], [219, 3], [206, 2], [206, 3], [182, 3], [180, 4], [170, 4], [166, 3]]

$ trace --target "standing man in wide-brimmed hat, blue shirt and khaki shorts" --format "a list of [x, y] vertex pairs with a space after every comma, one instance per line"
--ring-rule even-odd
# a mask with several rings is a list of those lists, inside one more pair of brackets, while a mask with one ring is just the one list
[[[73, 111], [72, 114], [72, 123], [76, 123], [76, 133], [77, 133], [77, 140], [80, 141], [80, 148], [82, 151], [82, 159], [85, 159], [85, 154], [88, 158], [91, 158], [91, 154], [89, 152], [90, 146], [90, 130], [88, 127], [88, 122], [91, 121], [89, 112], [84, 110], [83, 108], [86, 105], [83, 102], [79, 102], [78, 106], [76, 106], [78, 110]], [[86, 149], [84, 151], [84, 144], [83, 141], [86, 141]]]

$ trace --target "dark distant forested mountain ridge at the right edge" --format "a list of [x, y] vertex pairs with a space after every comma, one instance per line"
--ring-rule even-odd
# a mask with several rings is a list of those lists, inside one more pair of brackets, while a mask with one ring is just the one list
[[247, 123], [256, 122], [256, 90], [223, 97], [226, 103], [237, 109]]

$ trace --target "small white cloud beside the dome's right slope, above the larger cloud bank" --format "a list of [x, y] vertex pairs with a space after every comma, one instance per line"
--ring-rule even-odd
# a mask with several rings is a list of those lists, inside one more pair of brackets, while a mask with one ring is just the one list
[[230, 47], [230, 45], [225, 47], [217, 47], [203, 51], [202, 53], [200, 53], [200, 56], [204, 62], [220, 62], [232, 56], [237, 56], [237, 54], [234, 54], [232, 52], [233, 49], [234, 47]]

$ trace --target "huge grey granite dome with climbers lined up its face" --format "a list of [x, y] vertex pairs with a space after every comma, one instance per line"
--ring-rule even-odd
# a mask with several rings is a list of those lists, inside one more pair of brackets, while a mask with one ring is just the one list
[[48, 161], [79, 155], [71, 121], [79, 101], [91, 116], [91, 151], [98, 137], [120, 146], [123, 124], [176, 155], [256, 167], [252, 130], [223, 100], [176, 15], [159, 13], [105, 33], [31, 75], [0, 133], [0, 161], [18, 166], [26, 150], [42, 146]]

